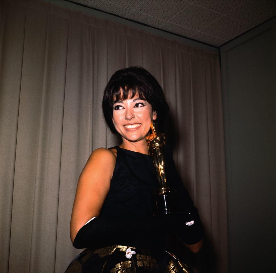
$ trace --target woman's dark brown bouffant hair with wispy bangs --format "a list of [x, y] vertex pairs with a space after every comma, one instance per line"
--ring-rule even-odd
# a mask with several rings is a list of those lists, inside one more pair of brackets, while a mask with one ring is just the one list
[[139, 66], [116, 71], [104, 89], [102, 107], [104, 118], [111, 132], [118, 134], [112, 122], [114, 103], [128, 97], [133, 98], [136, 94], [152, 105], [152, 109], [157, 114], [158, 130], [162, 132], [168, 113], [168, 104], [165, 101], [163, 89], [150, 72]]

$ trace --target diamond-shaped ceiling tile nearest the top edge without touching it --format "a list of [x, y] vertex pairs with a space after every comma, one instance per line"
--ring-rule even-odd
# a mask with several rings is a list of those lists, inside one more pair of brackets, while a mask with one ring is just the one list
[[191, 4], [175, 17], [170, 19], [170, 22], [186, 26], [188, 28], [193, 28], [195, 30], [200, 30], [204, 26], [218, 19], [220, 16], [221, 14]]

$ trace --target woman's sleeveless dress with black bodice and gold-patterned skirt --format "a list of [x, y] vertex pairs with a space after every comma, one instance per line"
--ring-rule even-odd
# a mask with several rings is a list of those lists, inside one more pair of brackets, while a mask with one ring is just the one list
[[[117, 150], [116, 165], [110, 191], [99, 217], [110, 219], [111, 222], [118, 219], [124, 221], [125, 239], [120, 245], [85, 249], [71, 262], [66, 273], [192, 272], [187, 264], [166, 251], [166, 243], [160, 238], [159, 232], [145, 234], [144, 238], [139, 239], [128, 236], [128, 230], [131, 229], [128, 222], [152, 218], [152, 193], [159, 185], [150, 155], [118, 146], [114, 148]], [[167, 162], [170, 162], [169, 156], [166, 157]], [[168, 169], [171, 169], [169, 175], [177, 181], [173, 186], [179, 190], [183, 185], [174, 169], [174, 162], [168, 165]], [[184, 195], [193, 205], [187, 191], [184, 191]]]

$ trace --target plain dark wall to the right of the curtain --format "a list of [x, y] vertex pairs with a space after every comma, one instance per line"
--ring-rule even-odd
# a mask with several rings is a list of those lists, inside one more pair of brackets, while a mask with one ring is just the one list
[[276, 272], [276, 18], [221, 47], [221, 70], [229, 272]]

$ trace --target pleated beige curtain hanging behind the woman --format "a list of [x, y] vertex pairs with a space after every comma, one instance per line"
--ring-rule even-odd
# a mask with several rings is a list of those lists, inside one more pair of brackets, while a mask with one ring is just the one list
[[140, 65], [164, 87], [176, 164], [227, 272], [218, 54], [41, 1], [1, 1], [0, 22], [0, 271], [64, 272], [80, 252], [69, 238], [78, 176], [93, 149], [118, 143], [103, 89]]

